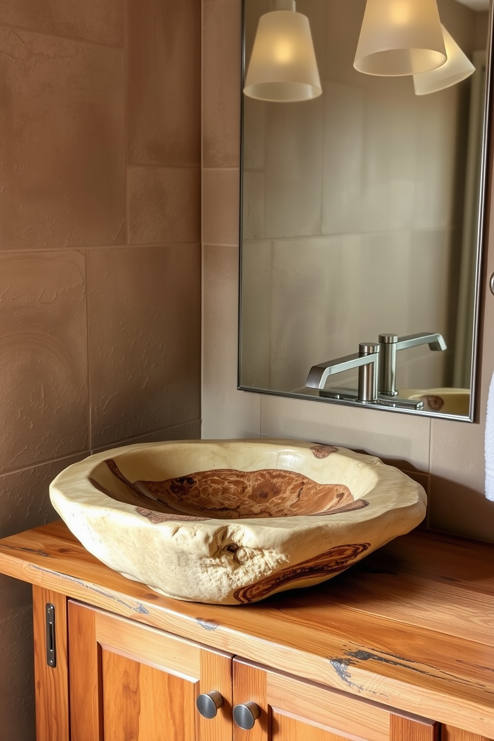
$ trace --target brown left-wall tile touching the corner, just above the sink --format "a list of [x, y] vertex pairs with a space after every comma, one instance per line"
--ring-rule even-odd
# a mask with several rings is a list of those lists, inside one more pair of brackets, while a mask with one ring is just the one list
[[199, 245], [91, 250], [93, 447], [199, 416]]

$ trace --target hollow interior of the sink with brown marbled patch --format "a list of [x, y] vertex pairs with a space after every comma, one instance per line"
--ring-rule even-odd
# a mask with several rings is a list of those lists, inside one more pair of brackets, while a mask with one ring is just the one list
[[[336, 448], [331, 450], [329, 446], [315, 446], [315, 449], [327, 455], [336, 452]], [[310, 474], [317, 476], [321, 472], [311, 470], [307, 462], [294, 459], [293, 451], [265, 453], [263, 465], [273, 468], [245, 471], [235, 468], [246, 462], [242, 460], [244, 455], [235, 452], [236, 455], [225, 461], [228, 468], [206, 471], [195, 470], [198, 461], [187, 461], [187, 456], [177, 462], [172, 450], [170, 456], [166, 451], [159, 456], [148, 456], [145, 467], [138, 454], [109, 457], [96, 466], [90, 481], [111, 499], [170, 515], [161, 518], [162, 522], [177, 515], [196, 520], [324, 515], [367, 505], [358, 494], [365, 493], [370, 485], [368, 480], [367, 487], [364, 479], [358, 484], [348, 482], [353, 491], [345, 482], [318, 482]]]

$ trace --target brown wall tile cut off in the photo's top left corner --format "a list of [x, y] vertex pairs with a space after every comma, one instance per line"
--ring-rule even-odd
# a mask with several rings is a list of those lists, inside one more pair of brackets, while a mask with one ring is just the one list
[[124, 0], [2, 0], [0, 23], [122, 46]]

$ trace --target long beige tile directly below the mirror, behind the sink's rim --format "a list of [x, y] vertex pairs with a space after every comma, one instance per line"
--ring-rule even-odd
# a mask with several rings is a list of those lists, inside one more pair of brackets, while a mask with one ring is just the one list
[[263, 396], [261, 434], [342, 445], [384, 456], [407, 471], [424, 472], [429, 467], [428, 417]]

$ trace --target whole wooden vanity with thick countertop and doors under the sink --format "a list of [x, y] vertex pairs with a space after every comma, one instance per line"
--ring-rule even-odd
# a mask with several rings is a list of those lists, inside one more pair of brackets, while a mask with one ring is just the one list
[[493, 563], [418, 532], [239, 608], [161, 597], [62, 523], [0, 541], [33, 584], [37, 741], [494, 741]]

